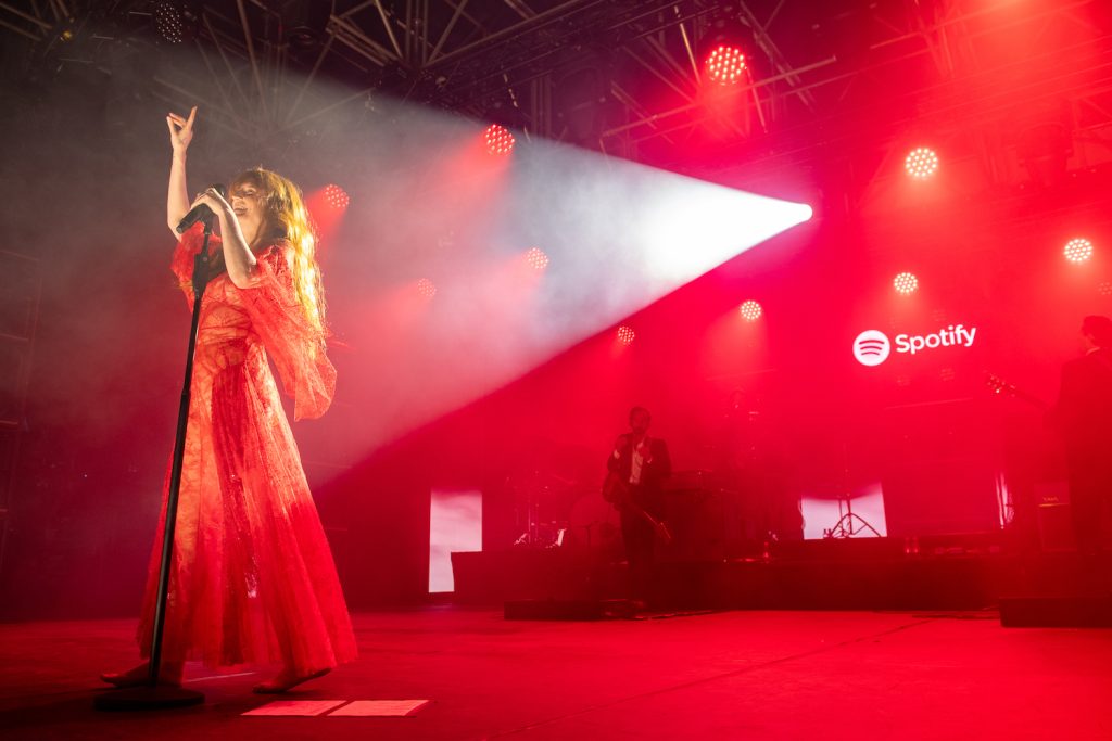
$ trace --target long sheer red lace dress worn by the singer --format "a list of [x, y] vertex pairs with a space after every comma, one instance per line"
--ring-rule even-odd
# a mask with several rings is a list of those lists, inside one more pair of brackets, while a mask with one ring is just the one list
[[[202, 239], [198, 224], [173, 253], [190, 308]], [[220, 249], [214, 237], [210, 250]], [[285, 660], [308, 674], [354, 659], [355, 637], [267, 354], [297, 419], [328, 409], [336, 371], [322, 333], [301, 313], [289, 246], [256, 257], [257, 286], [236, 288], [222, 273], [201, 304], [163, 657], [210, 667]], [[139, 624], [145, 658], [163, 524]]]

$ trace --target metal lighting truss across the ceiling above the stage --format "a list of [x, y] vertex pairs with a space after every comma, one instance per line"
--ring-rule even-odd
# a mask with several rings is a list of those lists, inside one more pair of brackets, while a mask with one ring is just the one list
[[[329, 4], [310, 42], [282, 34], [291, 9]], [[98, 63], [106, 46], [133, 43], [158, 6], [152, 0], [3, 0], [0, 29], [27, 42], [30, 57]], [[146, 84], [208, 119], [258, 141], [327, 136], [331, 113], [371, 108], [385, 92], [404, 100], [493, 118], [526, 136], [656, 161], [682, 146], [714, 112], [699, 96], [702, 46], [716, 32], [739, 36], [748, 76], [743, 114], [726, 121], [718, 144], [747, 152], [752, 166], [798, 166], [818, 159], [874, 119], [884, 96], [850, 103], [877, 78], [901, 79], [893, 96], [922, 104], [892, 132], [930, 121], [941, 137], [961, 138], [989, 183], [1015, 179], [1015, 142], [1001, 138], [1015, 111], [1061, 101], [1060, 123], [1080, 142], [1082, 164], [1108, 159], [1112, 146], [1112, 28], [1101, 0], [1016, 3], [992, 0], [224, 0], [176, 2], [191, 11], [191, 38], [180, 44], [201, 66], [162, 67]], [[1009, 43], [1020, 28], [1072, 29], [1075, 41], [1037, 43], [1040, 80], [994, 87], [1006, 76], [982, 49]], [[1049, 31], [1046, 31], [1049, 33]], [[1049, 38], [1049, 37], [1048, 37]], [[1061, 37], [1059, 37], [1061, 38]], [[1037, 41], [1037, 38], [1035, 39]], [[923, 74], [926, 67], [930, 74]], [[205, 71], [198, 76], [198, 69]], [[592, 104], [599, 123], [584, 140], [569, 129], [567, 80], [590, 70], [600, 84]], [[914, 73], [911, 73], [914, 71]], [[315, 84], [328, 79], [341, 84]], [[344, 92], [337, 92], [342, 89]], [[970, 90], [976, 90], [973, 98]], [[573, 91], [574, 92], [574, 91]], [[580, 92], [582, 98], [582, 92]], [[1037, 121], [1033, 123], [1037, 126]], [[921, 124], [923, 128], [923, 124]], [[813, 136], [801, 136], [812, 132]], [[832, 133], [833, 132], [833, 133]], [[966, 136], [969, 134], [969, 136]], [[841, 138], [841, 139], [840, 139]], [[898, 136], [870, 147], [897, 156]], [[810, 143], [800, 143], [810, 142]], [[861, 146], [860, 142], [856, 146]], [[886, 149], [885, 149], [886, 148]], [[874, 163], [875, 164], [875, 163]], [[867, 179], [867, 178], [866, 178]]]

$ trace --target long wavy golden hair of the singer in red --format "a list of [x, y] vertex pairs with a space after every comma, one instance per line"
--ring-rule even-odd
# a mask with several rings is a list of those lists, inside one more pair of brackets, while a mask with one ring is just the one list
[[259, 191], [265, 223], [251, 248], [265, 247], [270, 240], [285, 239], [294, 250], [294, 288], [305, 316], [314, 327], [325, 331], [325, 289], [317, 264], [317, 236], [305, 208], [301, 189], [289, 179], [261, 167], [245, 170], [236, 176], [228, 192], [241, 184], [251, 184]]

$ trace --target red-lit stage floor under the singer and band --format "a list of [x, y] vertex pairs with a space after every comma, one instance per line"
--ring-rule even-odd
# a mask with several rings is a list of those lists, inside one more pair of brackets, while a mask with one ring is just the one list
[[264, 674], [187, 670], [201, 707], [102, 713], [133, 621], [0, 624], [4, 739], [1110, 739], [1112, 630], [993, 613], [719, 612], [507, 622], [354, 615], [360, 659], [287, 699], [428, 699], [408, 718], [261, 718]]

